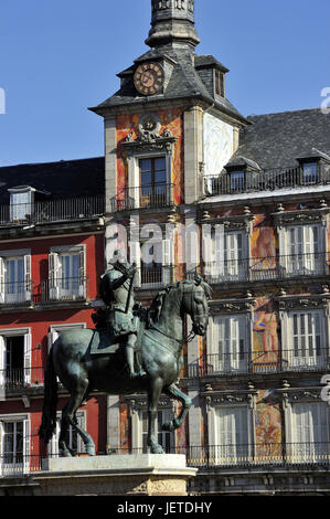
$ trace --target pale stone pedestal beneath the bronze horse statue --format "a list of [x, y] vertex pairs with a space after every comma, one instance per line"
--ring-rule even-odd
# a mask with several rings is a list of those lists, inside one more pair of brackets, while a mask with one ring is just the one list
[[43, 496], [187, 496], [196, 468], [175, 454], [49, 458], [34, 479]]

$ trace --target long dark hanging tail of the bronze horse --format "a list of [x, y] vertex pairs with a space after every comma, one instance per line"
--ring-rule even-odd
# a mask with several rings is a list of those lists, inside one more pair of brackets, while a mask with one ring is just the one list
[[44, 375], [44, 403], [39, 436], [47, 444], [56, 428], [57, 380], [53, 363], [53, 348], [47, 358]]

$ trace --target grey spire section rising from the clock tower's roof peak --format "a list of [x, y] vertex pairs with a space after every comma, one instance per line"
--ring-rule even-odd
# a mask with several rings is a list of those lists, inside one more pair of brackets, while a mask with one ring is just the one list
[[147, 45], [177, 43], [195, 47], [200, 43], [194, 27], [194, 0], [151, 0], [151, 10]]

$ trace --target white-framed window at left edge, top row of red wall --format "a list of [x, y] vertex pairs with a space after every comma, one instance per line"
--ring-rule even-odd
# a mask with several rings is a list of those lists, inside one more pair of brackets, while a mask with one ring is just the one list
[[31, 256], [0, 257], [0, 303], [22, 305], [31, 300]]

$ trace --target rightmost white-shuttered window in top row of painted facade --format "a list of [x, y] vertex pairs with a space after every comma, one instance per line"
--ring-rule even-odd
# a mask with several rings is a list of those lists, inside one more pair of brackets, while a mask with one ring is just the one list
[[324, 269], [319, 225], [294, 225], [287, 227], [288, 274], [320, 274]]

